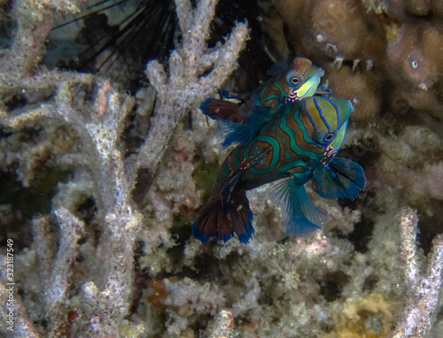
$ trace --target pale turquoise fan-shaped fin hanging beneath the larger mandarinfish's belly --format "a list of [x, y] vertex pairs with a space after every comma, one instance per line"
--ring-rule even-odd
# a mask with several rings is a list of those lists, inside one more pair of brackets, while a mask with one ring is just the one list
[[320, 230], [328, 220], [328, 216], [311, 202], [305, 187], [291, 178], [277, 183], [270, 198], [282, 209], [286, 234], [306, 236]]

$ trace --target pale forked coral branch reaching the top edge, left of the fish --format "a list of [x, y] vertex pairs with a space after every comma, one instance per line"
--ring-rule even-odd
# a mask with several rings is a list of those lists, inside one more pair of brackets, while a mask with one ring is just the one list
[[[182, 46], [169, 58], [169, 74], [158, 61], [148, 64], [146, 73], [160, 98], [159, 111], [151, 123], [137, 165], [155, 173], [171, 133], [193, 103], [220, 88], [236, 66], [237, 55], [247, 37], [247, 27], [238, 23], [223, 46], [206, 49], [209, 23], [214, 16], [216, 0], [202, 0], [192, 10], [190, 2], [176, 1], [177, 15], [183, 32]], [[207, 71], [211, 71], [204, 75]]]

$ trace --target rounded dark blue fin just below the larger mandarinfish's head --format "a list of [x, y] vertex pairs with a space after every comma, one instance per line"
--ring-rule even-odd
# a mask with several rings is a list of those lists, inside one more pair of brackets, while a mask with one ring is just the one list
[[316, 168], [312, 181], [315, 192], [326, 199], [354, 199], [366, 184], [361, 165], [338, 157], [330, 165]]

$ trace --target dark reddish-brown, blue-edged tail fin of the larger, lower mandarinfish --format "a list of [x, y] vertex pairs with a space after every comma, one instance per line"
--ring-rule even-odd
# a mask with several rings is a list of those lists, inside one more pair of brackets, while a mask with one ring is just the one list
[[238, 240], [247, 243], [253, 237], [253, 212], [249, 207], [244, 190], [234, 192], [226, 207], [219, 197], [212, 197], [198, 211], [192, 225], [193, 236], [206, 243], [211, 237], [227, 242], [237, 234]]

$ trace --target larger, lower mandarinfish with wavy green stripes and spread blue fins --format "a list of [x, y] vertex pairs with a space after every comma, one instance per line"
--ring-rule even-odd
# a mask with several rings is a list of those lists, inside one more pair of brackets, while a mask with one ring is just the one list
[[[262, 109], [252, 111], [248, 120]], [[237, 234], [240, 242], [249, 242], [253, 212], [245, 191], [278, 180], [270, 197], [283, 211], [286, 234], [321, 229], [327, 216], [307, 196], [308, 181], [327, 199], [354, 198], [365, 186], [360, 165], [335, 158], [352, 111], [348, 100], [309, 96], [280, 105], [264, 124], [236, 124], [229, 140], [240, 145], [221, 165], [213, 195], [192, 225], [194, 237], [204, 243], [211, 237], [227, 242]]]

